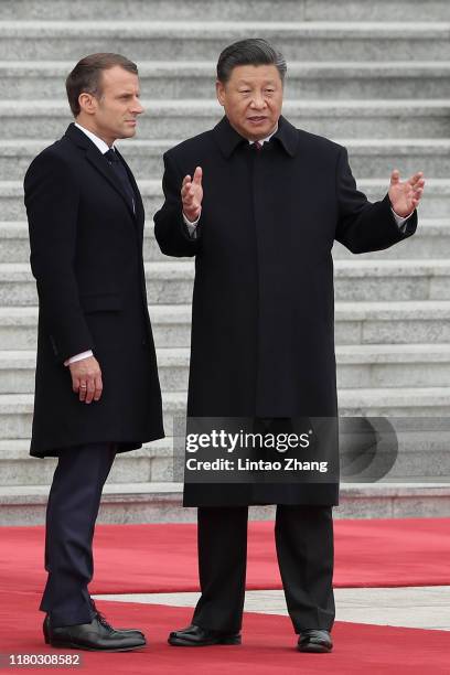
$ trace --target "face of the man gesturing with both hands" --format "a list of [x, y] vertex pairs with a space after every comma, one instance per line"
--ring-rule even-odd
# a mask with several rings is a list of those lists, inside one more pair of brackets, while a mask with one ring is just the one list
[[232, 127], [249, 140], [276, 128], [282, 107], [282, 82], [275, 65], [236, 66], [227, 83], [216, 82], [217, 99]]

